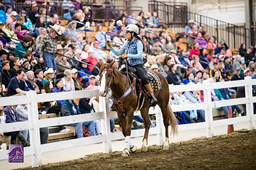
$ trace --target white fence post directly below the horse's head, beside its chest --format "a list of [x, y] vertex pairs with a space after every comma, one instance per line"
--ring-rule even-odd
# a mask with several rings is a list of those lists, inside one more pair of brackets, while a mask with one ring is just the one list
[[110, 117], [108, 116], [108, 97], [99, 97], [100, 112], [104, 112], [104, 119], [101, 119], [102, 135], [106, 136], [106, 141], [103, 142], [103, 152], [112, 152], [112, 145], [110, 139]]

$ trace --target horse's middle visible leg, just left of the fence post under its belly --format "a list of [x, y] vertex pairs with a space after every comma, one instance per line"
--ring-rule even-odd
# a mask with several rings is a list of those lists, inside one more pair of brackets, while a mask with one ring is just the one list
[[148, 132], [149, 132], [149, 127], [150, 127], [150, 119], [149, 119], [149, 116], [148, 116], [148, 110], [149, 110], [149, 107], [145, 107], [145, 108], [142, 108], [140, 110], [140, 114], [142, 116], [142, 118], [144, 119], [144, 124], [145, 124], [145, 133], [144, 133], [144, 137], [143, 137], [143, 143], [142, 143], [142, 146], [141, 146], [141, 151], [143, 152], [146, 152], [148, 151]]

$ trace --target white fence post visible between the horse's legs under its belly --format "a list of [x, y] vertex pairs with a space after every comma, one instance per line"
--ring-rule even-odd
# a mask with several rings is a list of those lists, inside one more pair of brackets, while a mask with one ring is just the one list
[[158, 109], [158, 112], [156, 113], [156, 127], [160, 128], [160, 133], [157, 133], [157, 144], [163, 145], [165, 141], [164, 119], [159, 106], [157, 106], [157, 109]]

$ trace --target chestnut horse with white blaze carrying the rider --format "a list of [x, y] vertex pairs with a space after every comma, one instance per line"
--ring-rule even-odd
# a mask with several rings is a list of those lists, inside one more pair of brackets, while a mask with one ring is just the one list
[[[122, 134], [125, 137], [125, 148], [122, 151], [122, 156], [127, 157], [129, 156], [129, 151], [135, 152], [137, 150], [137, 146], [133, 146], [130, 142], [130, 131], [132, 127], [132, 121], [134, 119], [134, 112], [137, 109], [137, 100], [138, 96], [136, 94], [133, 95], [133, 93], [127, 93], [127, 87], [130, 87], [132, 85], [132, 82], [129, 82], [127, 80], [127, 75], [123, 74], [121, 71], [118, 71], [118, 69], [113, 66], [115, 63], [115, 60], [111, 63], [104, 63], [102, 60], [99, 61], [100, 64], [100, 88], [99, 92], [102, 97], [107, 96], [108, 89], [111, 89], [112, 97], [113, 99], [116, 99], [119, 101], [123, 100], [122, 104], [116, 104], [113, 103], [116, 111], [118, 113], [119, 122], [122, 127]], [[165, 79], [165, 77], [160, 74], [158, 71], [154, 71], [154, 74], [156, 74], [159, 79], [160, 83], [162, 83], [162, 88], [160, 90], [156, 91], [154, 95], [157, 98], [157, 105], [159, 105], [162, 116], [164, 119], [164, 126], [165, 126], [165, 142], [164, 142], [164, 150], [169, 149], [169, 134], [168, 134], [168, 126], [170, 124], [171, 126], [171, 133], [173, 135], [176, 135], [177, 133], [177, 121], [175, 114], [171, 110], [170, 104], [169, 104], [169, 87], [168, 82]], [[134, 89], [132, 89], [133, 91]], [[125, 95], [124, 95], [125, 94]], [[124, 97], [126, 96], [126, 97]], [[120, 107], [121, 105], [121, 107]], [[145, 133], [143, 137], [143, 144], [141, 147], [141, 151], [145, 152], [148, 151], [148, 132], [149, 127], [151, 125], [150, 119], [149, 119], [149, 104], [148, 102], [144, 102], [143, 106], [140, 109], [140, 113], [142, 118], [145, 122]], [[127, 149], [127, 146], [130, 146], [130, 149]]]

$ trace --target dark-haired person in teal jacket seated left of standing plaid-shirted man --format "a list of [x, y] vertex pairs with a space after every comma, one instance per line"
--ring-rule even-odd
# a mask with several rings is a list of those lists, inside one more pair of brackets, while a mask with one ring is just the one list
[[21, 60], [21, 58], [23, 58], [24, 54], [26, 54], [29, 51], [32, 51], [31, 47], [32, 47], [33, 43], [34, 43], [34, 40], [32, 37], [27, 37], [23, 40], [22, 43], [18, 43], [14, 50], [16, 57], [19, 57]]

